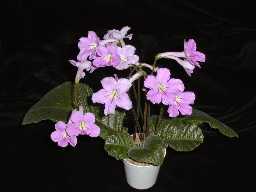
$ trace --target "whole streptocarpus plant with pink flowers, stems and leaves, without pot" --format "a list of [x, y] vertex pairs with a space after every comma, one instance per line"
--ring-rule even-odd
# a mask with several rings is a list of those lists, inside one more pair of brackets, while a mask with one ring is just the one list
[[[103, 40], [93, 31], [89, 31], [87, 37], [80, 38], [78, 61], [69, 60], [78, 68], [74, 85], [66, 82], [47, 93], [29, 109], [22, 124], [51, 119], [57, 122], [51, 138], [61, 147], [66, 147], [68, 143], [75, 147], [79, 134], [100, 136], [106, 140], [104, 149], [110, 156], [155, 165], [163, 163], [162, 149], [167, 146], [177, 151], [190, 151], [202, 143], [204, 136], [198, 125], [204, 122], [228, 137], [237, 137], [236, 132], [228, 126], [202, 111], [192, 109], [195, 93], [185, 91], [182, 81], [171, 78], [168, 68], [156, 67], [158, 59], [173, 59], [191, 76], [195, 66], [200, 68], [197, 61], [205, 61], [205, 55], [196, 51], [195, 41], [184, 40], [182, 52], [157, 54], [153, 65], [150, 65], [140, 63], [139, 56], [134, 54], [135, 47], [125, 45], [124, 38], [132, 39], [132, 34], [126, 35], [129, 29], [109, 30]], [[92, 73], [97, 68], [107, 66], [117, 70], [129, 68], [130, 73], [126, 78], [116, 75], [103, 78], [100, 81], [102, 89], [94, 93], [88, 85], [79, 83], [85, 76], [85, 69]], [[147, 74], [144, 68], [149, 68], [151, 72]], [[138, 83], [138, 90], [135, 89], [135, 82]], [[135, 103], [131, 100], [131, 88]], [[141, 93], [145, 96], [144, 107], [140, 106]], [[104, 115], [99, 104], [89, 104], [91, 102], [88, 100], [104, 104]], [[150, 116], [152, 104], [161, 106], [158, 116]], [[123, 126], [125, 113], [116, 108], [132, 110], [136, 122], [133, 137]], [[169, 117], [163, 118], [164, 111], [168, 112]], [[137, 132], [142, 142], [136, 146]]]

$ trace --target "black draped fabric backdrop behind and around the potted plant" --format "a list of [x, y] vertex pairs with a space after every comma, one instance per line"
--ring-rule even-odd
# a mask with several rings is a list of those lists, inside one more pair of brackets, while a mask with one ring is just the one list
[[[123, 164], [104, 151], [104, 140], [79, 136], [75, 148], [50, 139], [54, 122], [21, 125], [28, 109], [52, 88], [72, 81], [79, 38], [93, 30], [129, 26], [127, 44], [141, 62], [159, 52], [182, 51], [193, 38], [206, 62], [190, 78], [172, 60], [171, 69], [194, 108], [234, 129], [227, 138], [203, 125], [204, 142], [191, 152], [168, 148], [156, 184], [147, 191], [254, 191], [256, 26], [249, 1], [18, 1], [0, 3], [1, 157], [0, 191], [136, 191], [125, 180]], [[85, 76], [95, 91], [100, 80], [119, 71], [106, 67]], [[152, 105], [152, 115], [158, 108]], [[124, 125], [133, 130], [131, 111]], [[251, 173], [253, 173], [251, 175]]]

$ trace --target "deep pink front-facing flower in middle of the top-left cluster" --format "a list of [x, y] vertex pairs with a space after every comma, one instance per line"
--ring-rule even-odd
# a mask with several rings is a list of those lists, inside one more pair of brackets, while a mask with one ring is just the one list
[[113, 45], [98, 46], [96, 48], [99, 57], [92, 61], [92, 64], [96, 67], [113, 66], [116, 67], [120, 64], [120, 56], [117, 54], [117, 48]]

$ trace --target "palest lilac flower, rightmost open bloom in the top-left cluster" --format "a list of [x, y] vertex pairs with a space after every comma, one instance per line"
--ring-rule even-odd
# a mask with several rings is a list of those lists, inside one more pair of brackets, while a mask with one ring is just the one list
[[122, 48], [117, 47], [117, 54], [120, 56], [121, 62], [116, 68], [123, 70], [127, 69], [130, 65], [137, 63], [139, 61], [139, 56], [134, 55], [135, 50], [135, 47], [132, 45], [125, 45]]

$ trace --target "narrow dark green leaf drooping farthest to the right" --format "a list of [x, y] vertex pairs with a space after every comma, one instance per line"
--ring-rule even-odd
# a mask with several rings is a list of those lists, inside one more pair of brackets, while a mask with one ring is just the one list
[[238, 137], [236, 132], [223, 123], [220, 123], [218, 120], [207, 115], [206, 113], [193, 109], [190, 116], [185, 116], [181, 119], [182, 122], [193, 122], [194, 124], [209, 123], [212, 128], [219, 129], [220, 132], [228, 137]]

